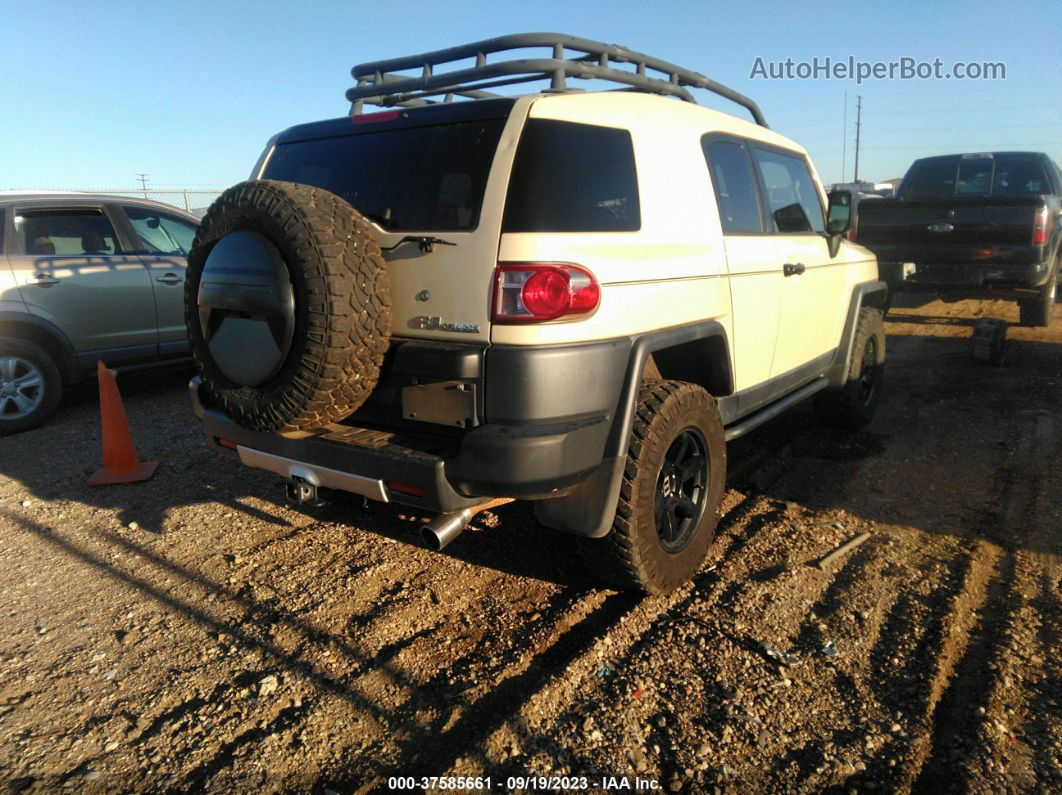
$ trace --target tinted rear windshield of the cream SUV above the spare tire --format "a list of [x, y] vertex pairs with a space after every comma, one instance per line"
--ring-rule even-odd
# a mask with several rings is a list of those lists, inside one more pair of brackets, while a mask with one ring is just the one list
[[390, 231], [479, 223], [504, 119], [280, 143], [263, 176], [324, 188]]

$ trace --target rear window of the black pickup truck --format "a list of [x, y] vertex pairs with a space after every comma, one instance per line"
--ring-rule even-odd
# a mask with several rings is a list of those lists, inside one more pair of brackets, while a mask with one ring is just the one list
[[1035, 196], [1050, 192], [1047, 172], [1039, 158], [1027, 155], [957, 155], [915, 162], [904, 180], [900, 195], [903, 198], [950, 198]]

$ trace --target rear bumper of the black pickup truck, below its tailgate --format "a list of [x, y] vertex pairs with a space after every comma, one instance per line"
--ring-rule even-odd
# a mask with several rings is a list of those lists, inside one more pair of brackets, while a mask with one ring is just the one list
[[1038, 263], [923, 263], [878, 262], [880, 277], [897, 291], [936, 292], [1000, 288], [1034, 289], [1050, 274], [1050, 262]]

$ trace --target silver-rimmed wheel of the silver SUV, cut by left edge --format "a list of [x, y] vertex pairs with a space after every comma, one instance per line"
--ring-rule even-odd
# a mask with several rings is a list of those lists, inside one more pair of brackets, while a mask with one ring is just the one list
[[42, 425], [62, 395], [63, 378], [48, 351], [29, 340], [0, 338], [0, 435]]

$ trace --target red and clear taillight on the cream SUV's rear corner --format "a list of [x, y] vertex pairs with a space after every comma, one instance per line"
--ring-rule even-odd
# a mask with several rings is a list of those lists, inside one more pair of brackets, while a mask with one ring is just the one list
[[503, 262], [494, 272], [495, 323], [544, 323], [597, 309], [601, 287], [579, 265]]

